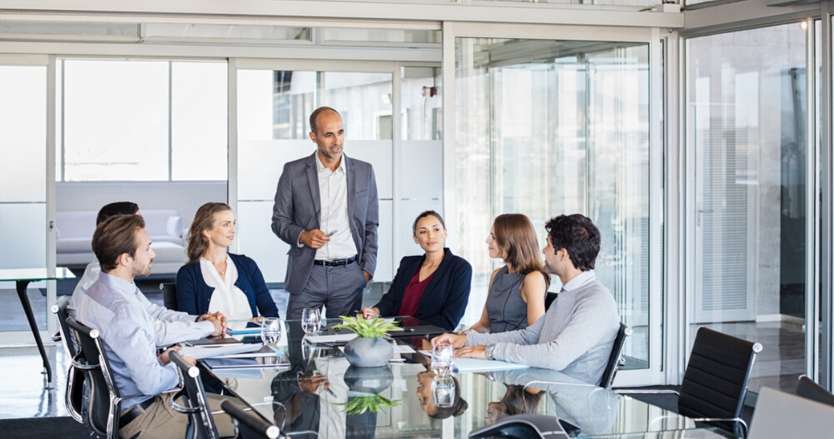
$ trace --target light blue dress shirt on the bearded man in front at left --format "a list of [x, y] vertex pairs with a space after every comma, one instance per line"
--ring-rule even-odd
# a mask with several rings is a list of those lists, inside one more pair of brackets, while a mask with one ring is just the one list
[[163, 366], [156, 356], [153, 322], [141, 296], [133, 282], [102, 273], [75, 310], [78, 322], [100, 332], [122, 397], [147, 395], [125, 401], [123, 410], [179, 384], [177, 366]]

